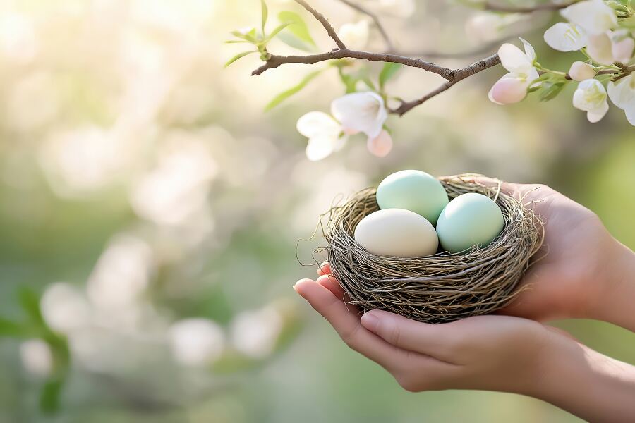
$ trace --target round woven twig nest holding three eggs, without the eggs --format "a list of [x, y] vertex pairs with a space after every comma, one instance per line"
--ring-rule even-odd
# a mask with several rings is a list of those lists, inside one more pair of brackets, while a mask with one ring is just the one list
[[[469, 178], [468, 178], [469, 177]], [[469, 179], [469, 180], [468, 180]], [[504, 228], [487, 247], [428, 257], [373, 255], [353, 239], [357, 223], [379, 209], [375, 188], [353, 195], [329, 213], [325, 238], [333, 275], [363, 311], [383, 309], [427, 323], [488, 314], [519, 293], [519, 281], [542, 244], [540, 219], [531, 204], [473, 182], [473, 175], [440, 178], [452, 198], [479, 192], [494, 200]]]

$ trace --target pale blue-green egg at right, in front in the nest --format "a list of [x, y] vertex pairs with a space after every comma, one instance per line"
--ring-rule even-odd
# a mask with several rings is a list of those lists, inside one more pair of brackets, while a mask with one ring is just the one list
[[487, 247], [503, 224], [502, 212], [494, 200], [469, 192], [445, 206], [437, 221], [437, 235], [444, 250], [460, 252], [474, 245]]

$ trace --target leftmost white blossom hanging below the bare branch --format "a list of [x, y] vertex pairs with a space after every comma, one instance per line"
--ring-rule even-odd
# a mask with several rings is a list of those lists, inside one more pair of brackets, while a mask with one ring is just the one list
[[311, 161], [329, 157], [345, 141], [344, 137], [340, 138], [341, 125], [322, 111], [310, 111], [301, 116], [296, 128], [308, 138], [306, 157]]

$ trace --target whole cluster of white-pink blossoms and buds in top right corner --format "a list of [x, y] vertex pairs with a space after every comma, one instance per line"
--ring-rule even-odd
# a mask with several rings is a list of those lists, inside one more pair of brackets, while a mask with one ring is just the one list
[[533, 47], [524, 39], [524, 52], [513, 44], [503, 44], [498, 54], [509, 73], [492, 86], [490, 100], [512, 104], [537, 90], [542, 91], [541, 99], [548, 100], [574, 80], [579, 84], [573, 106], [586, 111], [588, 121], [595, 123], [605, 116], [608, 98], [635, 125], [635, 77], [629, 66], [635, 49], [634, 31], [621, 26], [634, 11], [612, 3], [615, 8], [603, 0], [578, 1], [561, 11], [567, 22], [545, 31], [545, 42], [553, 49], [580, 51], [586, 56], [586, 61], [574, 61], [567, 73], [541, 66]]

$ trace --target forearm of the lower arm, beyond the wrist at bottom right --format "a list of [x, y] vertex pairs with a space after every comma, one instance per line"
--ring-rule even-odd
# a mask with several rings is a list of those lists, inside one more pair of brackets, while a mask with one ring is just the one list
[[537, 398], [591, 422], [635, 421], [635, 367], [579, 343], [552, 357]]

